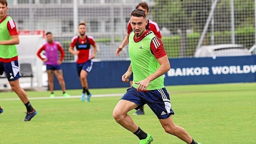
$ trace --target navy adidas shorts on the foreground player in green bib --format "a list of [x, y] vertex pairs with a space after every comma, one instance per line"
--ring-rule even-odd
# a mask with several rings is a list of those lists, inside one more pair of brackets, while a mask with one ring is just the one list
[[166, 88], [143, 92], [131, 87], [127, 89], [127, 92], [121, 99], [137, 104], [138, 107], [135, 108], [136, 110], [147, 104], [155, 115], [157, 115], [158, 119], [165, 119], [169, 118], [170, 115], [174, 115], [171, 108], [170, 96]]

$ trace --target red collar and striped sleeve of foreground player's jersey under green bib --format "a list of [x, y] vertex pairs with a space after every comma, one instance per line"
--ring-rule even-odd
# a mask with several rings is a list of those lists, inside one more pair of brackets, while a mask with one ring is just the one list
[[[147, 30], [146, 32], [143, 33], [143, 35], [141, 37], [139, 37], [138, 39], [136, 39], [135, 35], [133, 37], [133, 40], [134, 42], [139, 42], [141, 41], [146, 35], [150, 34], [152, 32], [150, 32], [149, 30]], [[157, 37], [154, 37], [152, 40], [151, 40], [151, 44], [150, 44], [150, 49], [151, 49], [151, 52], [152, 54], [156, 57], [156, 59], [158, 58], [161, 58], [166, 54], [166, 51], [163, 47], [163, 42], [157, 38]]]

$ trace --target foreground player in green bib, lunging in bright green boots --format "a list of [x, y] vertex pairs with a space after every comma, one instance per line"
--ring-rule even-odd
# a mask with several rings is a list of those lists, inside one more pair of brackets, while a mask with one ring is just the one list
[[132, 109], [139, 109], [147, 104], [168, 134], [177, 136], [188, 144], [199, 144], [172, 120], [174, 112], [171, 109], [170, 96], [163, 85], [163, 74], [170, 70], [170, 63], [162, 41], [152, 31], [145, 29], [148, 20], [143, 10], [133, 10], [130, 21], [133, 29], [128, 38], [131, 64], [122, 76], [122, 81], [128, 82], [131, 72], [134, 81], [115, 106], [113, 118], [135, 134], [140, 139], [140, 144], [150, 144], [153, 137], [138, 127], [127, 114]]

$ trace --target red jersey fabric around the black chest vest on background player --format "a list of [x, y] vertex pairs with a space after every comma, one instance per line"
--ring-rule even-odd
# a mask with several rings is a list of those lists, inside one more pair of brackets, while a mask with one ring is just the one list
[[[86, 37], [88, 38], [89, 44], [94, 46], [95, 45], [94, 38], [90, 35], [86, 35]], [[84, 38], [82, 40], [81, 38], [79, 38], [79, 36], [74, 36], [71, 40], [70, 47], [74, 48], [74, 46], [77, 45], [77, 39], [80, 44], [86, 44], [87, 38]], [[77, 63], [85, 63], [90, 60], [90, 56], [91, 56], [90, 49], [78, 49], [77, 48], [77, 51], [79, 51]]]

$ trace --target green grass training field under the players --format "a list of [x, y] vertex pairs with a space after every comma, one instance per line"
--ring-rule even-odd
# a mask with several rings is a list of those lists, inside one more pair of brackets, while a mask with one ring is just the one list
[[[174, 122], [204, 144], [256, 143], [256, 83], [167, 86]], [[93, 94], [125, 93], [126, 88], [91, 89]], [[68, 90], [80, 95], [81, 90]], [[48, 97], [47, 92], [27, 92]], [[61, 95], [61, 91], [56, 91]], [[0, 93], [0, 143], [138, 144], [138, 138], [118, 125], [112, 111], [118, 97], [31, 100], [38, 115], [22, 122], [26, 108], [13, 92]], [[134, 113], [135, 110], [129, 112]], [[154, 137], [152, 144], [184, 143], [163, 130], [145, 106], [145, 115], [131, 115], [141, 129]]]

